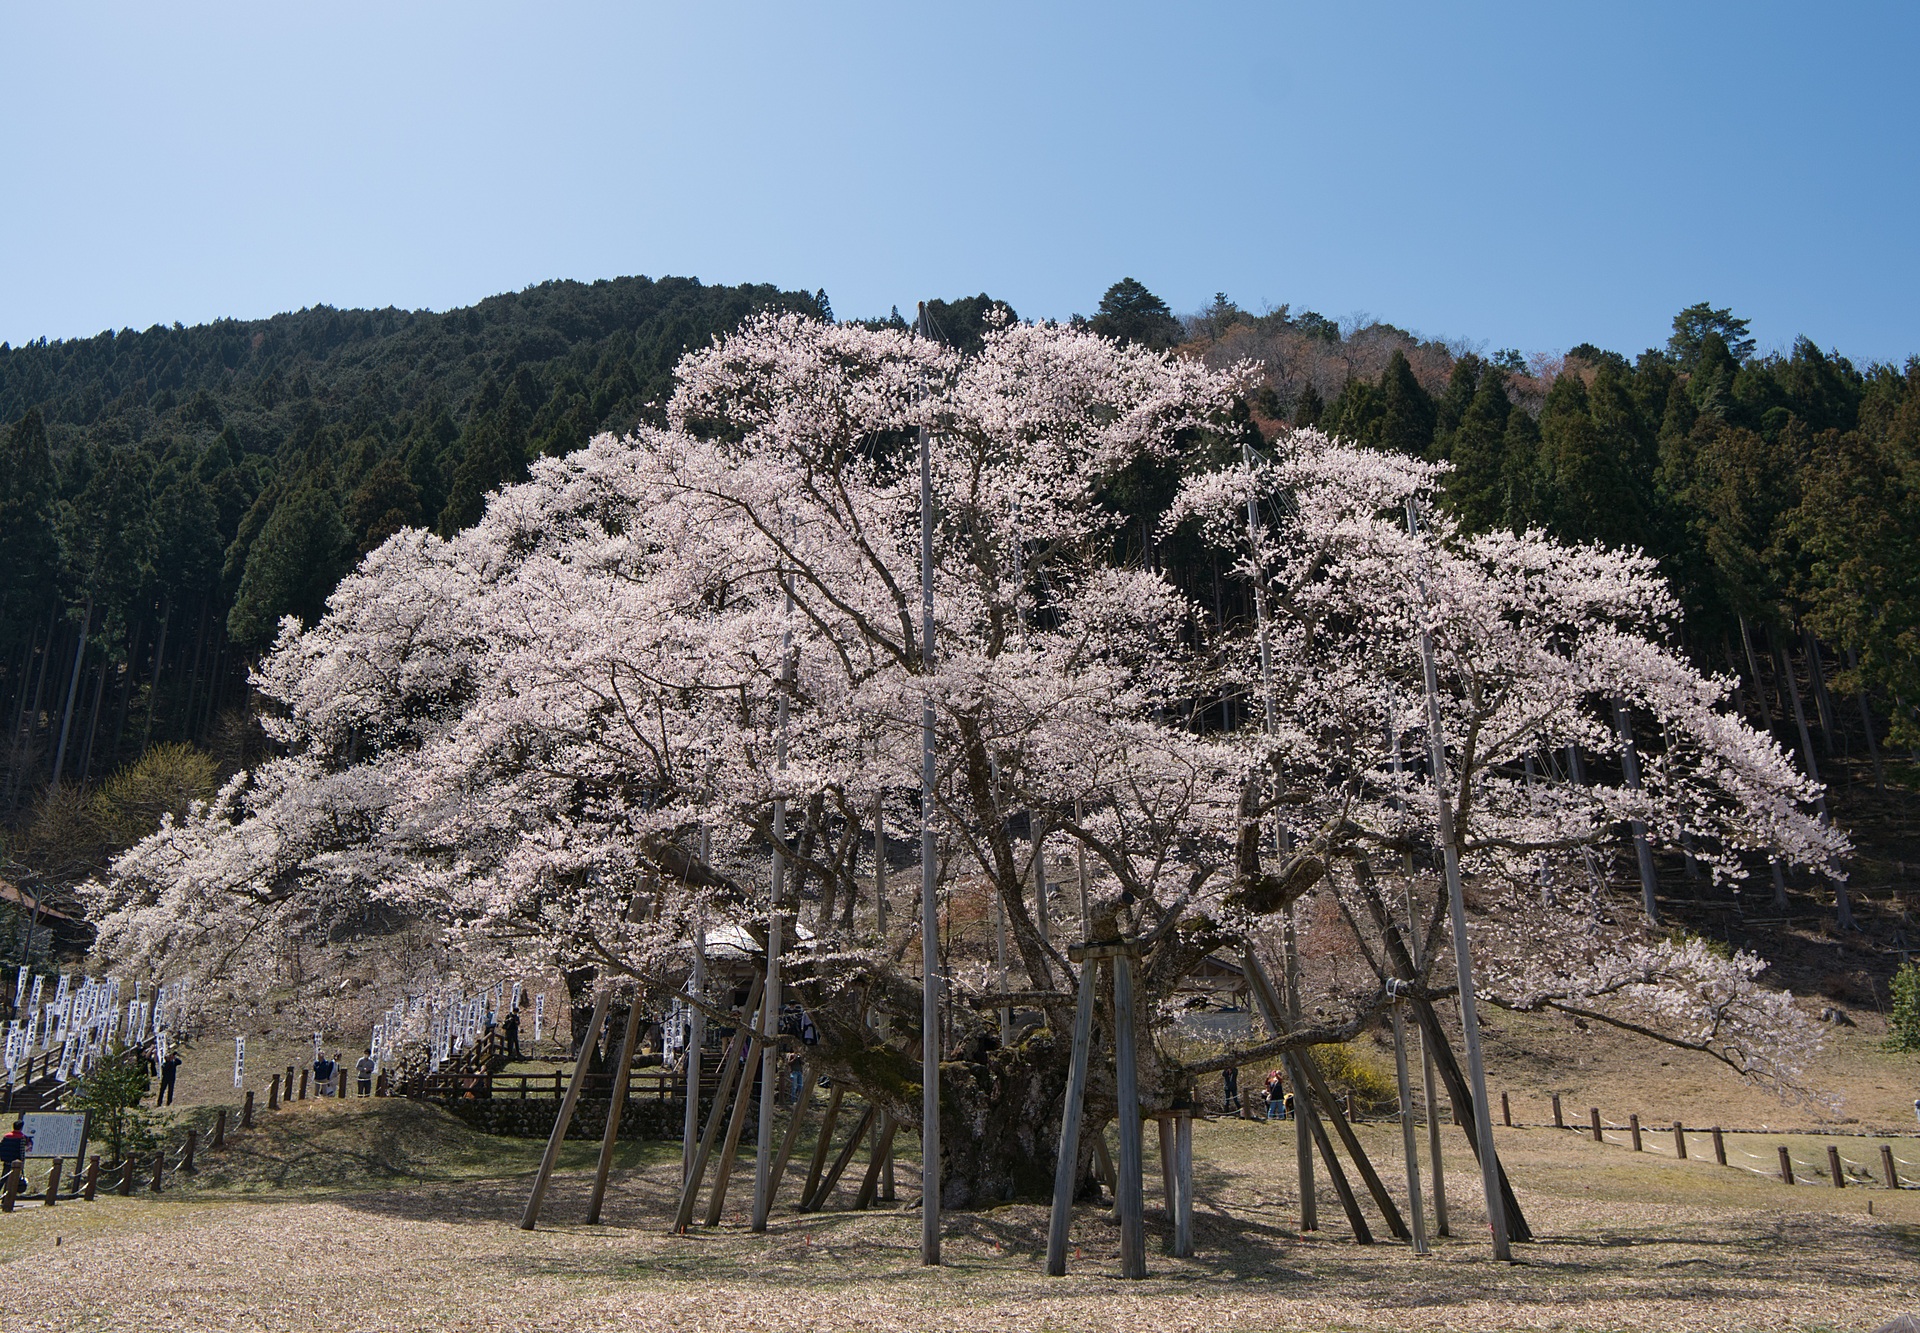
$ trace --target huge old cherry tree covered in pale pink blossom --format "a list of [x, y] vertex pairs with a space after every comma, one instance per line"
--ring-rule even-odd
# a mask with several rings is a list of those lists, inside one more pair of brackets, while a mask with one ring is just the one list
[[[1204, 957], [1327, 893], [1377, 976], [1446, 991], [1375, 874], [1432, 849], [1430, 774], [1407, 759], [1425, 749], [1427, 626], [1446, 799], [1500, 899], [1475, 943], [1503, 999], [1791, 1083], [1795, 1010], [1766, 1003], [1749, 960], [1601, 920], [1590, 866], [1632, 828], [1720, 876], [1755, 853], [1832, 870], [1845, 851], [1778, 749], [1724, 711], [1724, 682], [1667, 647], [1653, 567], [1440, 519], [1409, 534], [1436, 471], [1311, 432], [1212, 465], [1233, 453], [1240, 388], [1058, 327], [1008, 325], [962, 357], [906, 332], [749, 321], [685, 357], [666, 426], [536, 463], [451, 540], [396, 534], [317, 624], [286, 622], [255, 680], [280, 757], [121, 859], [94, 891], [102, 947], [263, 968], [290, 935], [388, 910], [432, 922], [447, 958], [538, 957], [664, 1005], [701, 924], [764, 945], [778, 912], [804, 928], [783, 970], [820, 1068], [912, 1126], [918, 914], [881, 932], [862, 905], [876, 853], [916, 820], [931, 699], [958, 939], [947, 1202], [989, 1202], [1050, 1179], [1083, 928], [1142, 941], [1156, 1012]], [[1188, 476], [1162, 528], [1229, 553], [1269, 607], [1258, 624], [1212, 624], [1116, 557], [1129, 476], [1171, 465]], [[1194, 726], [1223, 695], [1252, 697], [1254, 720]], [[1663, 743], [1638, 784], [1572, 780], [1569, 747], [1596, 770], [1619, 755], [1615, 705]], [[1085, 924], [1062, 857], [1091, 864]], [[1004, 982], [966, 937], [981, 899], [1006, 922]], [[1344, 1039], [1380, 997], [1235, 1058]], [[1021, 1014], [1004, 1041], [1002, 1006]], [[1144, 1035], [1154, 1106], [1217, 1064]], [[1114, 1089], [1096, 1079], [1089, 1106], [1112, 1114]]]

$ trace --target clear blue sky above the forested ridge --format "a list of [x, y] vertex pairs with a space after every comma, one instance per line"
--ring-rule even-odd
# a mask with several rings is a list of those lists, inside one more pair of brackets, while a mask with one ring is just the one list
[[1920, 351], [1920, 6], [0, 0], [0, 338], [624, 273]]

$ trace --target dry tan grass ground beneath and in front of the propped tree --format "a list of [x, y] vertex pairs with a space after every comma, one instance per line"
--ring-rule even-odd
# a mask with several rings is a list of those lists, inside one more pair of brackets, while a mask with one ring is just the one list
[[[1398, 1129], [1361, 1133], [1404, 1193]], [[847, 1212], [845, 1185], [837, 1208], [797, 1216], [789, 1181], [789, 1206], [751, 1235], [745, 1170], [722, 1225], [676, 1239], [680, 1152], [659, 1143], [622, 1147], [599, 1227], [580, 1224], [593, 1145], [568, 1143], [543, 1225], [524, 1233], [538, 1143], [399, 1101], [307, 1103], [261, 1116], [159, 1197], [0, 1218], [0, 1327], [1864, 1331], [1920, 1310], [1920, 1189], [1789, 1189], [1574, 1131], [1501, 1129], [1540, 1237], [1505, 1266], [1488, 1256], [1457, 1131], [1453, 1237], [1427, 1258], [1354, 1245], [1325, 1177], [1323, 1229], [1302, 1237], [1290, 1141], [1283, 1126], [1196, 1126], [1196, 1254], [1160, 1252], [1150, 1179], [1152, 1275], [1123, 1283], [1117, 1229], [1096, 1206], [1075, 1216], [1066, 1279], [1041, 1272], [1037, 1204], [950, 1216], [947, 1266], [925, 1272], [918, 1212]], [[1826, 1141], [1862, 1160], [1876, 1151], [1807, 1139], [1795, 1154], [1812, 1160]], [[1910, 1139], [1899, 1151], [1916, 1156]], [[912, 1181], [908, 1160], [902, 1199]]]

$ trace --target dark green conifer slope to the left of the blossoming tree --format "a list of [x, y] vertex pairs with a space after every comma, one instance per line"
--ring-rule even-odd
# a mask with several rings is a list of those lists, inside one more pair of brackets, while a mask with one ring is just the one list
[[35, 809], [63, 722], [83, 786], [157, 741], [230, 761], [282, 615], [317, 617], [401, 526], [478, 517], [534, 457], [662, 421], [682, 353], [766, 307], [822, 315], [826, 294], [547, 282], [444, 315], [0, 346], [6, 816]]

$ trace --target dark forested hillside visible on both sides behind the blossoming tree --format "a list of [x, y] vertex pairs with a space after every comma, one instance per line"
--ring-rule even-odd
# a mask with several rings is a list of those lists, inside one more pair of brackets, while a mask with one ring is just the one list
[[[263, 743], [246, 670], [282, 615], [315, 617], [397, 528], [457, 530], [530, 459], [647, 419], [685, 348], [768, 305], [831, 319], [826, 294], [618, 279], [442, 315], [319, 307], [0, 346], [0, 874], [73, 884], [207, 793]], [[996, 309], [933, 303], [962, 346]], [[1319, 424], [1452, 461], [1473, 526], [1645, 547], [1692, 655], [1738, 674], [1738, 707], [1809, 768], [1853, 755], [1880, 786], [1899, 778], [1882, 747], [1920, 743], [1920, 361], [1857, 367], [1805, 340], [1757, 355], [1707, 305], [1634, 357], [1480, 355], [1225, 296], [1183, 321], [1133, 280], [1089, 323], [1256, 361], [1248, 442]], [[1244, 615], [1212, 557], [1146, 522], [1177, 480], [1167, 465], [1116, 490], [1119, 540], [1194, 615]]]

